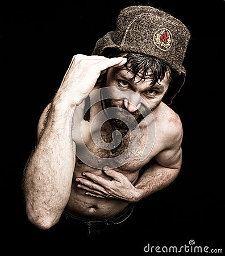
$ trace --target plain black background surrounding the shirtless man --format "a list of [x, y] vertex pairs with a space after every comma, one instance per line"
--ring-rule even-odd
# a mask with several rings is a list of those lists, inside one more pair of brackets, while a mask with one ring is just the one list
[[[184, 126], [180, 175], [168, 188], [138, 203], [114, 236], [80, 241], [78, 230], [39, 230], [27, 220], [21, 180], [40, 114], [72, 56], [91, 55], [97, 39], [115, 29], [119, 10], [133, 4], [163, 9], [191, 33], [184, 61], [186, 82], [171, 105]], [[33, 2], [1, 7], [1, 232], [7, 254], [146, 255], [143, 248], [148, 243], [184, 246], [189, 240], [196, 246], [222, 249], [224, 7], [223, 0], [80, 1], [51, 6]]]

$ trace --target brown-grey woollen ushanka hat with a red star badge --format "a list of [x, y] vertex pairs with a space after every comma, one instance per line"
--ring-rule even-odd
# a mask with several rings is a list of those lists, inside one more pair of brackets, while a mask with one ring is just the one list
[[129, 6], [120, 11], [115, 31], [100, 38], [92, 54], [103, 55], [105, 49], [117, 48], [164, 61], [178, 75], [163, 99], [171, 104], [184, 85], [186, 70], [182, 63], [189, 39], [188, 28], [172, 15], [151, 6]]

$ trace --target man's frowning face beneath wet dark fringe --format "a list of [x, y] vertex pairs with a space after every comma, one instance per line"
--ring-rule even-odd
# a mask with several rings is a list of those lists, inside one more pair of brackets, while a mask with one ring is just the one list
[[[104, 103], [107, 108], [115, 108], [114, 118], [111, 122], [118, 129], [135, 129], [137, 123], [150, 114], [159, 106], [164, 94], [168, 90], [169, 73], [166, 72], [164, 79], [160, 83], [151, 85], [151, 72], [149, 78], [140, 80], [124, 66], [123, 68], [110, 68], [107, 72], [106, 87], [115, 87], [111, 93], [111, 98], [105, 97]], [[140, 74], [141, 76], [141, 74]], [[116, 95], [119, 93], [119, 99]], [[115, 97], [112, 97], [113, 94]], [[134, 118], [136, 122], [134, 122]]]

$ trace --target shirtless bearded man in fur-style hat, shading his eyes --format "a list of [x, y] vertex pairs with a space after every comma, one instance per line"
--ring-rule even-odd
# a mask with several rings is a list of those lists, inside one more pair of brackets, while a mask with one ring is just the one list
[[28, 220], [49, 229], [64, 216], [92, 236], [176, 179], [182, 123], [168, 105], [184, 84], [189, 38], [173, 16], [131, 6], [93, 55], [73, 57], [24, 169]]

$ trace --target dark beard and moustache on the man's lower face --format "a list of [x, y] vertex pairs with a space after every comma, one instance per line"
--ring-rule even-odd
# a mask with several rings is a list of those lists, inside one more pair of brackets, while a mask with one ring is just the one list
[[[114, 108], [114, 113], [113, 113], [113, 117], [114, 118], [110, 118], [110, 115], [112, 116], [112, 114], [109, 114], [109, 119], [110, 122], [117, 128], [117, 129], [122, 129], [122, 130], [134, 130], [135, 127], [148, 115], [152, 112], [152, 110], [147, 109], [147, 108], [143, 108], [141, 110], [136, 110], [134, 113], [134, 117], [126, 117], [124, 116], [121, 112], [128, 112], [128, 110], [126, 109], [126, 107], [122, 104], [120, 104], [119, 102], [114, 103], [113, 99], [111, 98], [107, 98], [105, 100], [103, 100], [104, 104], [105, 104], [105, 109], [107, 111], [107, 109], [109, 108]], [[155, 108], [154, 108], [155, 109]], [[130, 112], [128, 112], [130, 113]]]

